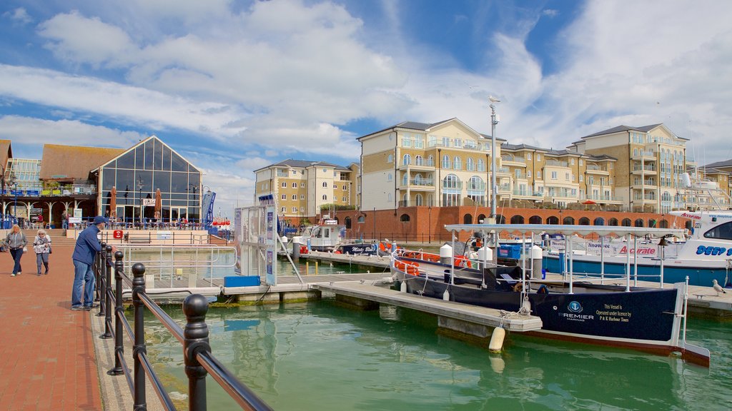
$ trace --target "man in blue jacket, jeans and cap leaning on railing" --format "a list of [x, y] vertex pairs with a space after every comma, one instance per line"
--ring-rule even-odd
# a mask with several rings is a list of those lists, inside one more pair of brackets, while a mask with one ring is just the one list
[[[94, 217], [94, 223], [86, 227], [76, 239], [74, 254], [74, 288], [71, 290], [71, 309], [74, 311], [89, 311], [94, 306], [94, 257], [102, 251], [99, 233], [104, 228], [107, 219], [102, 216]], [[83, 290], [83, 302], [81, 292]]]

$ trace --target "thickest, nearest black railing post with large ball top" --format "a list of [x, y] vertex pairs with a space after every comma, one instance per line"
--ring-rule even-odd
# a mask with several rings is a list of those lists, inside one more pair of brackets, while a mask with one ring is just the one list
[[206, 369], [198, 363], [196, 355], [200, 351], [211, 352], [209, 346], [209, 327], [206, 325], [206, 312], [209, 301], [201, 294], [188, 295], [183, 301], [186, 325], [183, 330], [183, 357], [185, 373], [188, 376], [188, 410], [206, 410]]

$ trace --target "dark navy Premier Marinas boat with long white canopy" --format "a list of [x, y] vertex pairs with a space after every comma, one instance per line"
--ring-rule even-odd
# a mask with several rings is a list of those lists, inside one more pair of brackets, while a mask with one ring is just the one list
[[[520, 233], [528, 238], [538, 233], [561, 234], [567, 238], [593, 233], [656, 238], [682, 234], [678, 229], [586, 225], [447, 225], [445, 228], [452, 231], [453, 238], [460, 232], [482, 233], [483, 238], [488, 238], [488, 233]], [[709, 366], [709, 350], [685, 341], [686, 282], [665, 287], [662, 284], [633, 287], [630, 271], [622, 276], [580, 278], [571, 271], [572, 256], [569, 274], [564, 279], [542, 279], [540, 249], [530, 242], [518, 247], [524, 250], [520, 252], [523, 255], [520, 265], [512, 267], [491, 263], [492, 255], [485, 247], [478, 250], [478, 259], [397, 249], [392, 254], [392, 273], [397, 281], [403, 282], [408, 293], [536, 315], [542, 320], [542, 328], [531, 333], [539, 336], [662, 354], [678, 352], [687, 361]], [[539, 255], [526, 258], [534, 250]]]

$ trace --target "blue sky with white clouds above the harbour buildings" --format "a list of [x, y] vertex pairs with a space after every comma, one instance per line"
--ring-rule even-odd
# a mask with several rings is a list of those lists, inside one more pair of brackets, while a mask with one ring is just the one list
[[699, 165], [732, 159], [732, 1], [4, 0], [0, 138], [129, 148], [157, 135], [214, 212], [253, 170], [359, 161], [357, 137], [459, 118], [566, 148], [665, 124]]

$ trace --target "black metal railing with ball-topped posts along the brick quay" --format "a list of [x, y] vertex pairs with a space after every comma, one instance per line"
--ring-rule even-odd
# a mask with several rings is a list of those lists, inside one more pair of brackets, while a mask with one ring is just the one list
[[[206, 312], [209, 303], [200, 294], [188, 295], [183, 302], [186, 316], [185, 328], [180, 328], [168, 314], [147, 295], [145, 290], [145, 265], [132, 265], [132, 279], [124, 274], [124, 254], [114, 253], [114, 290], [112, 290], [112, 246], [102, 243], [102, 252], [97, 254], [97, 288], [100, 293], [100, 312], [105, 316], [105, 332], [100, 339], [114, 339], [114, 367], [107, 374], [124, 375], [127, 386], [134, 401], [135, 411], [147, 410], [146, 377], [160, 399], [165, 410], [176, 410], [173, 401], [165, 391], [163, 382], [157, 377], [147, 357], [145, 342], [144, 310], [149, 309], [160, 323], [182, 344], [185, 372], [188, 377], [188, 409], [203, 411], [206, 404], [206, 375], [211, 374], [214, 380], [244, 410], [272, 410], [246, 385], [236, 379], [233, 373], [220, 363], [211, 352], [209, 346], [209, 328], [206, 325]], [[122, 306], [122, 282], [132, 288], [132, 306], [134, 308], [133, 324], [127, 321]], [[114, 303], [114, 322], [112, 321], [112, 303]], [[109, 308], [109, 309], [108, 309]], [[132, 340], [132, 372], [124, 357], [123, 333]]]

